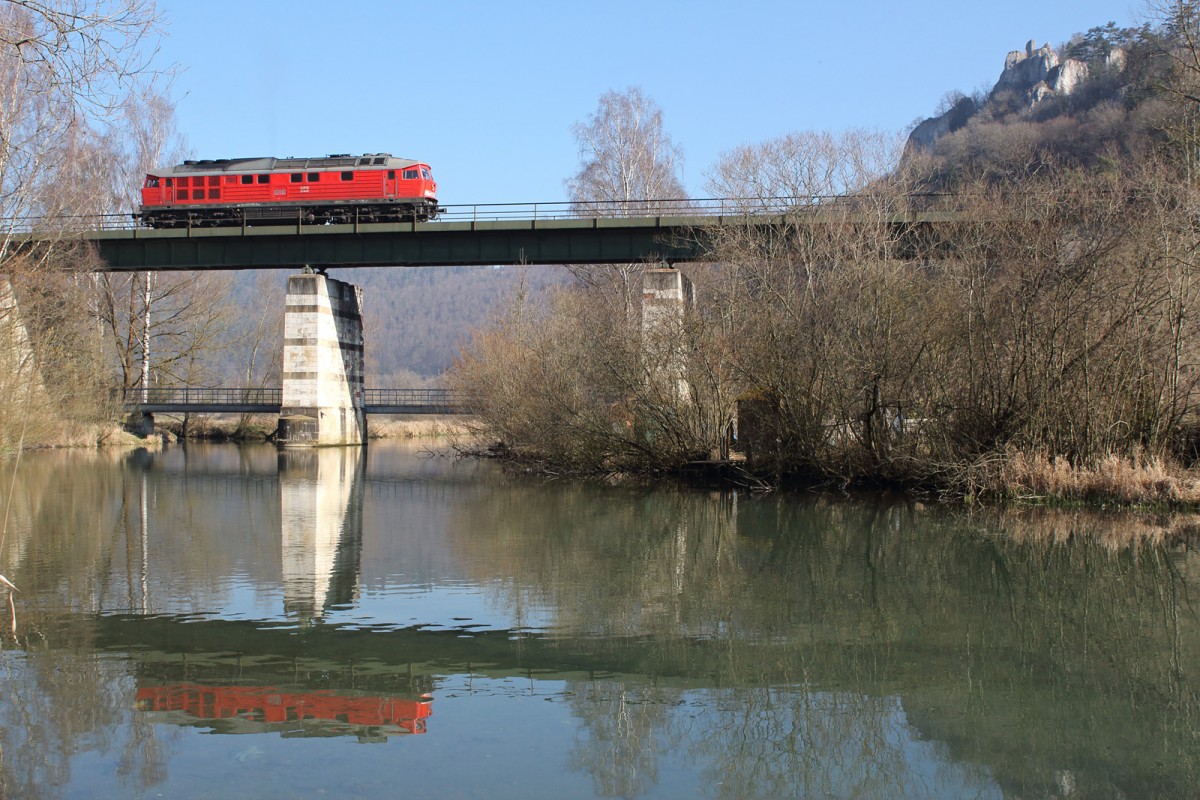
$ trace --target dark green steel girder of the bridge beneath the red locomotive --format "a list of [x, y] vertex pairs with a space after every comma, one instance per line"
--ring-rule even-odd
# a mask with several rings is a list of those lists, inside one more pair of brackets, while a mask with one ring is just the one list
[[714, 227], [745, 217], [506, 219], [96, 230], [107, 269], [240, 270], [682, 263], [710, 258]]

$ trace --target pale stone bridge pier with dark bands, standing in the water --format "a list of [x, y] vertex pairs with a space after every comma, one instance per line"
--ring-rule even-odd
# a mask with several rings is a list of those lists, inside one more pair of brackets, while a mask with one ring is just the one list
[[319, 272], [289, 276], [278, 444], [365, 444], [362, 390], [362, 289]]

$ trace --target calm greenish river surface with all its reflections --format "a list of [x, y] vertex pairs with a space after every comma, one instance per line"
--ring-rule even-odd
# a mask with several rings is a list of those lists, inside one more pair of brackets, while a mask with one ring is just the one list
[[1200, 793], [1187, 521], [391, 444], [0, 479], [0, 798]]

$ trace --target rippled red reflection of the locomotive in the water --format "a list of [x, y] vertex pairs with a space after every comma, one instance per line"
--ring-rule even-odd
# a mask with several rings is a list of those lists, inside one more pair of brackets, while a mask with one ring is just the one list
[[316, 722], [344, 733], [378, 729], [382, 733], [425, 733], [433, 714], [432, 698], [419, 700], [385, 697], [347, 697], [332, 692], [287, 692], [270, 686], [202, 686], [174, 684], [139, 688], [139, 711], [180, 711], [197, 720], [235, 720], [245, 730]]

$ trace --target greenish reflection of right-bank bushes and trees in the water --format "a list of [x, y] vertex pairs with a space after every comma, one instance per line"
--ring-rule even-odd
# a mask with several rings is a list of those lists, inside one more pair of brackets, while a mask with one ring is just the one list
[[[920, 796], [932, 778], [904, 777], [910, 726], [1022, 795], [1063, 776], [1085, 794], [1187, 795], [1200, 776], [1200, 561], [1145, 519], [577, 487], [458, 513], [473, 577], [510, 607], [548, 607], [564, 650], [726, 687], [704, 704], [737, 721], [694, 738], [714, 777], [738, 776], [730, 796], [830, 782]], [[643, 691], [576, 692], [596, 750], [575, 764], [606, 794], [641, 793], [684, 735], [677, 715], [618, 714]]]

